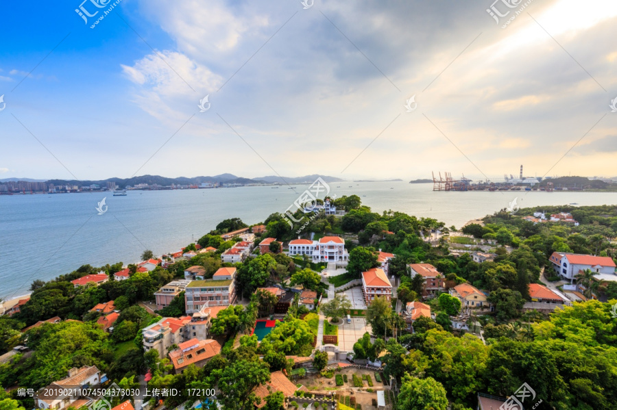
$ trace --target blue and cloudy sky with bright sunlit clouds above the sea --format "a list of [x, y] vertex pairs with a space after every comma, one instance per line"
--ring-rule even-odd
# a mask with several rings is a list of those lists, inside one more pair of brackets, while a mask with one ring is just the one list
[[1, 3], [0, 179], [617, 176], [614, 0], [115, 3]]

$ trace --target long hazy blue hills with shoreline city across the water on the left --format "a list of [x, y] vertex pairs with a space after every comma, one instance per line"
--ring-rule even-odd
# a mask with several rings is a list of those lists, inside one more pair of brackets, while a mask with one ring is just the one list
[[108, 182], [115, 182], [116, 186], [119, 188], [125, 188], [127, 185], [138, 185], [140, 183], [147, 183], [148, 185], [162, 185], [169, 186], [172, 183], [176, 185], [189, 185], [194, 183], [237, 183], [241, 185], [247, 185], [250, 183], [313, 183], [315, 179], [321, 177], [326, 182], [339, 182], [344, 181], [344, 179], [329, 177], [328, 175], [305, 175], [304, 177], [278, 177], [274, 175], [261, 177], [261, 178], [243, 178], [237, 177], [236, 175], [225, 173], [221, 175], [215, 175], [213, 177], [178, 177], [178, 178], [167, 178], [161, 177], [160, 175], [141, 175], [140, 177], [132, 177], [132, 178], [109, 178], [102, 180], [75, 180], [75, 179], [50, 179], [49, 181], [45, 181], [44, 179], [28, 179], [28, 178], [7, 178], [0, 179], [0, 182], [5, 181], [28, 181], [28, 182], [47, 182], [53, 183], [53, 185], [92, 185], [93, 183], [97, 185], [101, 185], [104, 187]]

